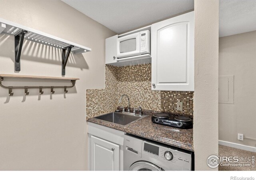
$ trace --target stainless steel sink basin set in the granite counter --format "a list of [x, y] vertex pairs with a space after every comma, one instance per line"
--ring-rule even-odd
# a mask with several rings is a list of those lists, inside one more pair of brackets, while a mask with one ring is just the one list
[[111, 122], [114, 124], [126, 126], [144, 117], [146, 117], [146, 115], [140, 116], [140, 115], [134, 115], [133, 113], [128, 113], [128, 112], [110, 112], [108, 114], [103, 114], [101, 116], [96, 116], [94, 118]]

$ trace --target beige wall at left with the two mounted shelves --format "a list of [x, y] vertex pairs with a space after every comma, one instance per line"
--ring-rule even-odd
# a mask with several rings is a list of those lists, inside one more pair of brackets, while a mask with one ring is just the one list
[[[14, 90], [9, 97], [0, 87], [0, 170], [86, 170], [86, 89], [104, 88], [105, 38], [115, 33], [61, 1], [0, 1], [0, 18], [92, 48], [70, 56], [66, 77], [80, 80], [66, 95], [45, 89], [39, 96], [35, 89], [28, 96]], [[21, 71], [14, 72], [14, 36], [2, 33], [0, 74], [61, 77], [61, 51], [25, 41]], [[2, 83], [62, 84], [7, 80]]]

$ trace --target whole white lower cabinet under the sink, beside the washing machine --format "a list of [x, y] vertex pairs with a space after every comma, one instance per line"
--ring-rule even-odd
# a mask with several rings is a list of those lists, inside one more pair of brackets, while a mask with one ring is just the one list
[[124, 170], [124, 132], [87, 122], [88, 170]]

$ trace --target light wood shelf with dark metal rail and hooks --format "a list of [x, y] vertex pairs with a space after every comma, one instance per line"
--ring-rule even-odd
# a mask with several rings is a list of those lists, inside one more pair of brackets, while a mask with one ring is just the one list
[[[71, 86], [4, 86], [2, 84], [2, 81], [4, 78], [32, 78], [32, 79], [48, 79], [48, 80], [70, 80], [72, 85]], [[6, 89], [9, 89], [9, 96], [13, 96], [12, 89], [24, 89], [25, 95], [28, 95], [28, 89], [39, 89], [39, 94], [44, 94], [42, 89], [44, 88], [50, 88], [51, 94], [54, 94], [54, 88], [64, 88], [64, 93], [67, 93], [67, 88], [72, 88], [76, 84], [76, 80], [79, 80], [79, 78], [62, 78], [62, 77], [48, 77], [48, 76], [25, 76], [25, 75], [15, 75], [15, 74], [0, 74], [0, 86]]]

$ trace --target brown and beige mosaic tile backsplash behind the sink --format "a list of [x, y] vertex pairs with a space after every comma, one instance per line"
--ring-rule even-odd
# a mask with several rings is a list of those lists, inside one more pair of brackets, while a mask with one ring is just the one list
[[[86, 90], [87, 118], [114, 111], [117, 106], [193, 115], [193, 93], [184, 91], [152, 91], [151, 64], [116, 67], [106, 65], [105, 89]], [[177, 111], [177, 102], [183, 102], [183, 111]]]

